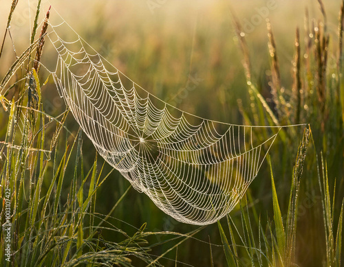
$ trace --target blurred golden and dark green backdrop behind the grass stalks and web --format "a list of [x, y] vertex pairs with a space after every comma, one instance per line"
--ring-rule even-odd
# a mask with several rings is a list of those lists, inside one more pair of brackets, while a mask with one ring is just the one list
[[[11, 1], [1, 1], [0, 3], [0, 36], [3, 36], [6, 28], [10, 3]], [[244, 68], [241, 65], [243, 56], [238, 47], [238, 38], [235, 35], [230, 9], [235, 12], [243, 25], [251, 56], [252, 76], [261, 95], [266, 99], [271, 97], [266, 18], [270, 19], [275, 34], [281, 69], [281, 84], [286, 90], [291, 90], [293, 84], [292, 60], [296, 27], [300, 27], [302, 45], [305, 38], [303, 28], [305, 8], [308, 8], [310, 18], [316, 18], [316, 20], [322, 18], [319, 3], [315, 0], [56, 0], [42, 1], [42, 3], [42, 19], [45, 10], [49, 8], [50, 4], [53, 5], [54, 9], [50, 14], [52, 23], [60, 21], [56, 14], [57, 11], [96, 51], [147, 91], [189, 113], [233, 124], [246, 123], [239, 111], [237, 100], [242, 101], [245, 110], [250, 109], [251, 102], [246, 89]], [[340, 5], [341, 1], [338, 0], [325, 2], [327, 32], [331, 34], [330, 57], [332, 58], [338, 52], [336, 32]], [[36, 1], [19, 1], [14, 13], [11, 35], [17, 55], [21, 54], [21, 51], [30, 43], [32, 29], [30, 23], [33, 21], [35, 9]], [[7, 38], [4, 49], [0, 77], [3, 77], [15, 60], [10, 38]], [[48, 69], [53, 70], [56, 58], [50, 56], [50, 49], [52, 48], [47, 43], [42, 62]], [[335, 60], [330, 60], [330, 62], [332, 61], [335, 62]], [[44, 69], [41, 71], [41, 76], [42, 80], [45, 80], [47, 72]], [[191, 87], [192, 89], [190, 89]], [[52, 79], [43, 91], [43, 109], [53, 116], [59, 115], [65, 110], [63, 100], [58, 97]], [[310, 118], [304, 116], [301, 122], [309, 123]], [[66, 126], [76, 134], [78, 126], [72, 115], [69, 115]], [[311, 128], [317, 132], [319, 125], [311, 124]], [[293, 137], [294, 141], [290, 143], [288, 152], [283, 152], [288, 154], [288, 158], [281, 156], [281, 150], [284, 148], [281, 146], [279, 138], [270, 152], [282, 213], [286, 212], [288, 208], [292, 166], [297, 155], [298, 144], [301, 141], [302, 130], [302, 128], [297, 130], [298, 134]], [[67, 133], [63, 132], [63, 135], [67, 135]], [[337, 135], [342, 136], [341, 142], [343, 143], [343, 133], [339, 132]], [[311, 199], [312, 205], [305, 209], [298, 221], [297, 262], [300, 266], [316, 266], [316, 263], [321, 262], [324, 257], [321, 202], [319, 189], [314, 185], [316, 183], [314, 154], [323, 148], [323, 144], [321, 139], [315, 140], [315, 142], [319, 143], [318, 150], [310, 148], [310, 152], [308, 152], [310, 156], [308, 156], [309, 159], [306, 159], [305, 174], [303, 175], [304, 181], [301, 182], [300, 202]], [[337, 153], [331, 146], [323, 149], [325, 149], [325, 159], [333, 159]], [[84, 135], [85, 172], [92, 167], [95, 154], [94, 146]], [[343, 161], [341, 161], [343, 151], [339, 151], [339, 154], [341, 158], [338, 161], [329, 161], [330, 183], [333, 185], [334, 178], [337, 178], [339, 192], [335, 199], [336, 212], [340, 209], [343, 199]], [[99, 159], [99, 166], [102, 162], [103, 159]], [[74, 167], [69, 166], [69, 169], [72, 174]], [[110, 171], [111, 167], [105, 164], [105, 173]], [[70, 179], [72, 180], [72, 175]], [[68, 183], [66, 182], [64, 186], [64, 191], [68, 192]], [[107, 214], [128, 187], [129, 182], [125, 178], [116, 171], [112, 172], [100, 188], [96, 210], [99, 213]], [[261, 167], [261, 171], [250, 185], [249, 191], [252, 195], [249, 207], [255, 206], [264, 221], [268, 217], [272, 218], [268, 163], [264, 163]], [[67, 198], [67, 193], [63, 197]], [[188, 233], [197, 229], [195, 226], [181, 224], [166, 216], [155, 207], [147, 196], [139, 194], [134, 189], [129, 190], [113, 216], [118, 218], [118, 220], [113, 220], [116, 227], [129, 233], [136, 231], [134, 227], [140, 228], [144, 222], [147, 222], [148, 231]], [[238, 209], [232, 211], [230, 216], [234, 222], [241, 225]], [[223, 224], [226, 222], [224, 221]], [[107, 234], [110, 233], [103, 233], [104, 236]], [[116, 240], [116, 236], [108, 236], [107, 239]], [[177, 258], [180, 262], [177, 266], [188, 266], [187, 264], [211, 266], [209, 240], [215, 244], [212, 246], [215, 266], [226, 266], [223, 248], [216, 246], [222, 244], [216, 224], [202, 229], [195, 235], [195, 239], [180, 244], [178, 251], [173, 249], [161, 262], [166, 266], [175, 266], [174, 260]], [[159, 240], [153, 240], [153, 242], [156, 241]], [[160, 255], [176, 242], [171, 241], [158, 246], [152, 253]], [[245, 262], [244, 259], [242, 261]]]

